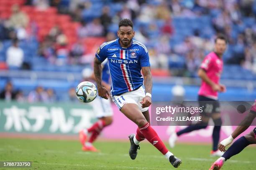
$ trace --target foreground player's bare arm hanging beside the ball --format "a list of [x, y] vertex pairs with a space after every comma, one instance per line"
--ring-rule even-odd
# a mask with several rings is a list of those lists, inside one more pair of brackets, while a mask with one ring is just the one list
[[94, 58], [94, 75], [95, 75], [95, 80], [97, 83], [97, 89], [98, 89], [98, 95], [100, 97], [103, 97], [105, 99], [108, 99], [110, 96], [108, 93], [108, 90], [102, 86], [102, 66], [100, 60], [98, 60], [96, 57]]

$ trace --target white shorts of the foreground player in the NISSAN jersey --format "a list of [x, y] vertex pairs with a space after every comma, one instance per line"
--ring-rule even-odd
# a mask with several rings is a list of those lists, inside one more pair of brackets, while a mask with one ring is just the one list
[[138, 105], [141, 112], [145, 112], [148, 110], [148, 107], [142, 108], [141, 107], [141, 100], [145, 97], [145, 90], [141, 86], [137, 90], [131, 91], [131, 92], [125, 92], [122, 95], [114, 95], [113, 102], [115, 102], [115, 105], [119, 108], [119, 110], [125, 105], [126, 103], [134, 103]]

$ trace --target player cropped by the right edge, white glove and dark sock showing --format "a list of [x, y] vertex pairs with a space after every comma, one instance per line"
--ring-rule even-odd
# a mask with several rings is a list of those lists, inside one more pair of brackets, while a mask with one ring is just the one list
[[[249, 114], [244, 118], [244, 120], [240, 123], [240, 126], [236, 127], [234, 132], [226, 139], [222, 140], [218, 146], [220, 151], [226, 151], [225, 147], [230, 145], [233, 140], [238, 137], [241, 133], [243, 133], [246, 129], [249, 128], [251, 123], [256, 117], [256, 100], [251, 107]], [[244, 148], [248, 145], [256, 144], [256, 128], [253, 131], [245, 136], [242, 136], [236, 142], [234, 142], [230, 148], [218, 159], [215, 163], [212, 164], [209, 170], [220, 170], [226, 160], [231, 158], [232, 156], [240, 153]]]

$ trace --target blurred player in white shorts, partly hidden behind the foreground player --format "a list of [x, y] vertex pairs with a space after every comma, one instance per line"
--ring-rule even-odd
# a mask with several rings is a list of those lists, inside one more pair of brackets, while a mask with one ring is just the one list
[[[108, 91], [110, 91], [110, 75], [108, 69], [108, 60], [101, 63], [102, 65], [102, 85]], [[83, 70], [83, 81], [95, 82], [93, 71], [90, 68]], [[82, 144], [82, 150], [97, 152], [98, 150], [92, 145], [96, 138], [100, 135], [103, 128], [110, 125], [113, 121], [113, 110], [111, 107], [110, 99], [105, 100], [102, 97], [96, 97], [95, 100], [90, 102], [96, 117], [99, 119], [90, 128], [83, 129], [79, 132], [80, 142]], [[87, 135], [91, 133], [90, 138], [87, 141]]]

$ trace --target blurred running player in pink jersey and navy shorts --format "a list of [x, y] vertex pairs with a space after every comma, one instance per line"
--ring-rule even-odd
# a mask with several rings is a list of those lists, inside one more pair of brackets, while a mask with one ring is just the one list
[[218, 92], [225, 92], [226, 87], [219, 83], [220, 75], [223, 70], [222, 56], [226, 50], [227, 40], [224, 35], [218, 35], [215, 39], [215, 50], [210, 52], [203, 60], [198, 71], [199, 77], [202, 79], [202, 84], [198, 92], [198, 101], [200, 107], [203, 106], [201, 113], [202, 122], [196, 125], [190, 125], [187, 128], [173, 133], [169, 138], [169, 144], [173, 148], [177, 138], [194, 130], [206, 128], [209, 119], [212, 118], [214, 128], [212, 132], [213, 147], [211, 151], [212, 156], [221, 156], [218, 150], [218, 143], [220, 140], [220, 127], [222, 124], [220, 117], [220, 104], [218, 102]]

